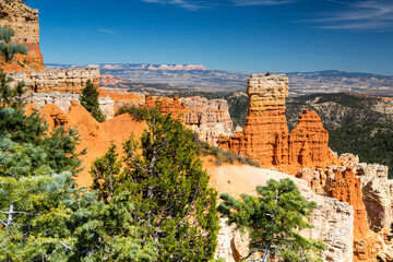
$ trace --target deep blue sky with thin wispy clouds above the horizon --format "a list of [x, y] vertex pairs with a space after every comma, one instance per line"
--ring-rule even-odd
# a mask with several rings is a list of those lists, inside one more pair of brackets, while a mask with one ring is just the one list
[[393, 75], [393, 0], [28, 0], [46, 63]]

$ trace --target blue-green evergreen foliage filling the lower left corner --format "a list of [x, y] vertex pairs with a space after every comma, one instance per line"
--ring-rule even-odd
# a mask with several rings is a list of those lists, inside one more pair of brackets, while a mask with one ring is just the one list
[[47, 133], [0, 80], [0, 261], [156, 261], [154, 245], [138, 243], [131, 202], [76, 188], [75, 131]]

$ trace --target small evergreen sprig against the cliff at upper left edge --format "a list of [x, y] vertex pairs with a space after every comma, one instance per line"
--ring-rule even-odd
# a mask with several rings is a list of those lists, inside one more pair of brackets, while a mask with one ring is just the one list
[[0, 28], [0, 57], [4, 56], [5, 62], [12, 61], [15, 53], [27, 55], [28, 48], [21, 44], [11, 44], [15, 32], [12, 28]]

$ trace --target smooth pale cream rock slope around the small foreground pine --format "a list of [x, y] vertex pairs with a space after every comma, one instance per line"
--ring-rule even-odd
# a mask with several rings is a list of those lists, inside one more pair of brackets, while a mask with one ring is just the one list
[[[353, 261], [354, 211], [349, 204], [318, 195], [308, 187], [307, 181], [283, 172], [250, 166], [223, 165], [217, 167], [212, 165], [210, 159], [204, 159], [203, 164], [211, 176], [210, 187], [215, 188], [218, 193], [228, 192], [236, 198], [239, 198], [243, 192], [255, 195], [255, 187], [265, 186], [267, 180], [272, 178], [294, 180], [301, 195], [309, 201], [317, 202], [317, 209], [309, 219], [314, 228], [303, 229], [301, 234], [307, 238], [323, 241], [327, 246], [323, 252], [323, 261]], [[222, 227], [218, 234], [216, 258], [222, 257], [227, 261], [238, 261], [234, 260], [233, 254], [247, 253], [245, 248], [247, 238], [241, 238], [241, 235], [237, 234], [226, 225]], [[225, 254], [227, 255], [225, 257]]]

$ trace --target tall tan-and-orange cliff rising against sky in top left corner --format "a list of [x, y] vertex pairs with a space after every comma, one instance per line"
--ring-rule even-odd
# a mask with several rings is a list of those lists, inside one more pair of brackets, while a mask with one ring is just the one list
[[0, 0], [0, 27], [13, 28], [15, 36], [12, 41], [28, 47], [28, 55], [17, 55], [15, 58], [24, 67], [14, 62], [3, 67], [5, 71], [44, 69], [39, 50], [38, 10], [27, 7], [23, 1]]

